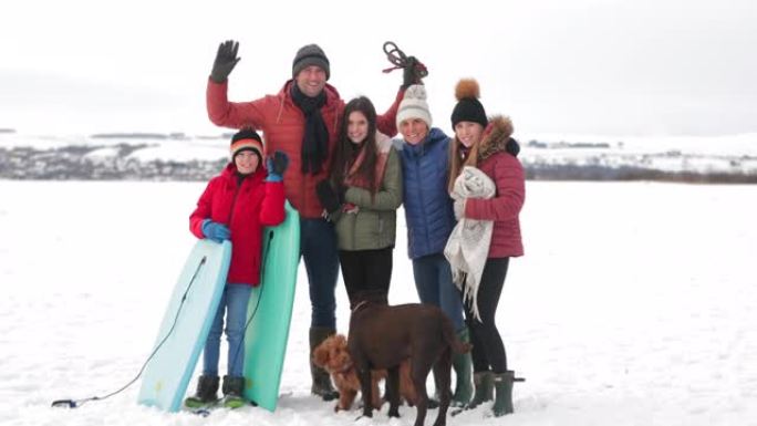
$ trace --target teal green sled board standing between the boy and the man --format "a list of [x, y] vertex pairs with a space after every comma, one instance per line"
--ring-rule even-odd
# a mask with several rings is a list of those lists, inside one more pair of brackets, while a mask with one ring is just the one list
[[270, 412], [279, 399], [300, 261], [300, 216], [289, 202], [286, 210], [284, 221], [263, 232], [262, 277], [252, 289], [245, 334], [245, 397]]

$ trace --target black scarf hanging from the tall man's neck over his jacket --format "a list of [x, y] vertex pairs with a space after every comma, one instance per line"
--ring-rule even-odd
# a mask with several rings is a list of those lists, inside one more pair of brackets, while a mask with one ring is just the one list
[[323, 162], [329, 157], [329, 131], [321, 107], [325, 105], [325, 91], [315, 97], [307, 96], [297, 82], [292, 84], [292, 101], [305, 116], [305, 131], [302, 137], [302, 173], [321, 172]]

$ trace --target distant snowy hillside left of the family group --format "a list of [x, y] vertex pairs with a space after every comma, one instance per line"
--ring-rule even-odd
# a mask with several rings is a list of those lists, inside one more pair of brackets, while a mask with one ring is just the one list
[[228, 160], [230, 136], [0, 134], [0, 178], [207, 180]]

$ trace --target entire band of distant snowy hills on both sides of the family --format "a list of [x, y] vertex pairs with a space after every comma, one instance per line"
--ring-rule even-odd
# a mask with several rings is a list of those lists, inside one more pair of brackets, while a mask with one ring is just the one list
[[[205, 180], [229, 134], [0, 133], [0, 178]], [[529, 179], [757, 183], [757, 134], [717, 137], [521, 137]]]

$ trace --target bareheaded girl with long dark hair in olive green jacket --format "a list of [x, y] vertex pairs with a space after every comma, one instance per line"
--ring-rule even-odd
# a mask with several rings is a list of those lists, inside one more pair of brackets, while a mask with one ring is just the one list
[[376, 131], [376, 110], [365, 96], [350, 101], [328, 180], [318, 195], [336, 225], [339, 259], [350, 303], [357, 293], [388, 294], [402, 172], [392, 139]]

